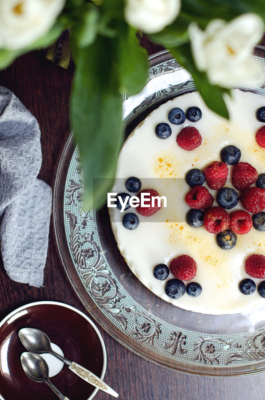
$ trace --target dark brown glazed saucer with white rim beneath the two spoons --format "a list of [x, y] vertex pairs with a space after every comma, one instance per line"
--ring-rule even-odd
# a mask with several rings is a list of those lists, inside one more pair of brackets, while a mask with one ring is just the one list
[[[57, 396], [45, 383], [28, 378], [20, 363], [26, 351], [18, 332], [21, 328], [38, 328], [57, 344], [68, 360], [84, 366], [103, 379], [106, 349], [100, 332], [82, 312], [67, 304], [36, 302], [18, 308], [0, 322], [0, 399], [55, 400]], [[71, 400], [90, 400], [97, 390], [78, 378], [66, 365], [50, 378]]]

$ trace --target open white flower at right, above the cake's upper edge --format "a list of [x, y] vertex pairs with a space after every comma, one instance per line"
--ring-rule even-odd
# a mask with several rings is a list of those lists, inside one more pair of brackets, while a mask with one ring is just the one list
[[192, 22], [189, 36], [197, 68], [206, 72], [211, 84], [224, 88], [235, 83], [263, 84], [262, 66], [249, 58], [263, 32], [263, 20], [256, 14], [243, 14], [231, 22], [215, 19], [205, 31]]

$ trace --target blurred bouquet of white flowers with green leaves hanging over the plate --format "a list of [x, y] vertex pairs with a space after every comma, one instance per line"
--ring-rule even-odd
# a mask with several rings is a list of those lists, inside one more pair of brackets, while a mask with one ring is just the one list
[[[169, 49], [207, 106], [229, 118], [223, 94], [235, 82], [264, 84], [263, 68], [249, 58], [264, 21], [263, 0], [0, 0], [0, 68], [70, 29], [70, 122], [80, 143], [85, 207], [94, 197], [99, 208], [124, 138], [122, 96], [139, 93], [147, 81], [137, 30]], [[111, 179], [100, 180], [92, 196], [93, 178]]]

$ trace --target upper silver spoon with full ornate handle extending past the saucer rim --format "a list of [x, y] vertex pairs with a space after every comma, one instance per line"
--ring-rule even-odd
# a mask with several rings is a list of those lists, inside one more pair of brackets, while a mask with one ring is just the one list
[[18, 332], [18, 336], [23, 346], [25, 346], [28, 351], [36, 354], [52, 354], [60, 361], [64, 362], [64, 364], [68, 365], [68, 368], [72, 370], [72, 372], [80, 376], [80, 378], [84, 379], [86, 382], [89, 382], [91, 385], [96, 386], [96, 388], [100, 388], [104, 392], [107, 392], [114, 397], [118, 397], [118, 393], [116, 393], [112, 388], [110, 388], [110, 386], [98, 378], [98, 376], [94, 375], [92, 372], [88, 371], [86, 368], [82, 367], [76, 362], [69, 361], [67, 358], [64, 358], [52, 350], [50, 339], [46, 333], [42, 332], [42, 330], [35, 328], [22, 328]]

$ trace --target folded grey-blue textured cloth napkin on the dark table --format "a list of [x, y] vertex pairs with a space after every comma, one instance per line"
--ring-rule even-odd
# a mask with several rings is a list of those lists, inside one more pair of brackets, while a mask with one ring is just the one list
[[0, 246], [17, 282], [42, 286], [52, 191], [36, 178], [42, 162], [36, 118], [0, 86]]

